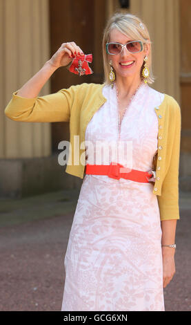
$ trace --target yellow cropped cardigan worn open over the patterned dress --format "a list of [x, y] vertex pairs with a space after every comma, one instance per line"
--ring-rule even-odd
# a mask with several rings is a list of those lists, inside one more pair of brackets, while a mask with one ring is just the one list
[[[105, 84], [79, 84], [57, 93], [35, 98], [12, 94], [5, 114], [14, 121], [69, 122], [71, 151], [66, 172], [83, 178], [85, 169], [85, 132], [94, 113], [106, 101]], [[154, 107], [159, 121], [158, 150], [153, 158], [156, 180], [153, 194], [157, 195], [161, 221], [179, 219], [179, 154], [181, 138], [181, 109], [173, 97], [166, 95], [160, 106]], [[79, 136], [79, 165], [74, 165], [74, 136]], [[71, 160], [72, 159], [72, 160]]]

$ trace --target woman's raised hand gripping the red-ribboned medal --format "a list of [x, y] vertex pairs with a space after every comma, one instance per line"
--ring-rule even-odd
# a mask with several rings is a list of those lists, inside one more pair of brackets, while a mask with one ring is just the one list
[[57, 50], [51, 59], [48, 61], [54, 68], [60, 66], [67, 66], [74, 57], [72, 55], [83, 55], [83, 50], [74, 41], [61, 44], [61, 47]]

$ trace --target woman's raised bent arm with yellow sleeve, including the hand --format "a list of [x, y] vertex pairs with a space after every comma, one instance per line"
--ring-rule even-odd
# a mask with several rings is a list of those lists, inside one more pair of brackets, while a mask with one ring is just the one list
[[70, 120], [70, 107], [75, 87], [62, 89], [58, 93], [38, 97], [39, 92], [52, 73], [60, 66], [66, 66], [72, 55], [82, 53], [74, 42], [63, 43], [59, 50], [48, 60], [19, 91], [15, 91], [12, 100], [5, 109], [8, 118], [22, 122], [62, 122]]

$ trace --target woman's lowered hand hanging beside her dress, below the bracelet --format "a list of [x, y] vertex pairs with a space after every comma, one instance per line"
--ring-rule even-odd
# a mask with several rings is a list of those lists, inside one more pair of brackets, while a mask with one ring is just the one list
[[163, 288], [168, 286], [174, 274], [174, 248], [163, 247]]

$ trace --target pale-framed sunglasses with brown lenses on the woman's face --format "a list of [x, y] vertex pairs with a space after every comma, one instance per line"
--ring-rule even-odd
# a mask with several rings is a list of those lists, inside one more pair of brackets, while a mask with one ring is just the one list
[[128, 41], [128, 43], [124, 45], [117, 42], [105, 44], [106, 53], [110, 55], [121, 54], [124, 46], [130, 53], [139, 53], [141, 50], [143, 50], [142, 41]]

